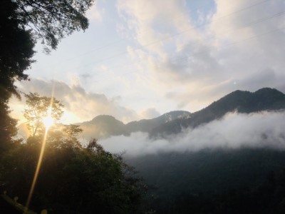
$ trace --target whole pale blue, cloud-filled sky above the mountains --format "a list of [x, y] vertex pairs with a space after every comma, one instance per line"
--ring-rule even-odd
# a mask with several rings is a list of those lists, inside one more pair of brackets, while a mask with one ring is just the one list
[[[54, 96], [63, 123], [194, 112], [235, 90], [285, 92], [283, 0], [97, 0], [89, 28], [46, 55], [41, 44], [16, 83]], [[23, 119], [24, 100], [11, 99]]]

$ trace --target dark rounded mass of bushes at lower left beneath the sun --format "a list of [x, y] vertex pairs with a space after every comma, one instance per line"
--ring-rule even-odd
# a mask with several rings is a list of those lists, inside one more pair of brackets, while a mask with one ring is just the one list
[[[71, 136], [72, 138], [73, 136]], [[4, 156], [1, 185], [25, 203], [41, 150], [38, 137], [28, 138]], [[97, 141], [88, 148], [67, 138], [48, 140], [31, 208], [48, 213], [135, 213], [144, 191], [133, 168]]]

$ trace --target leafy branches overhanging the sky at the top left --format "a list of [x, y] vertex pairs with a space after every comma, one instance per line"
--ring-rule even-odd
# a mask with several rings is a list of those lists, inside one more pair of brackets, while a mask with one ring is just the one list
[[85, 14], [94, 0], [12, 0], [18, 18], [33, 30], [33, 36], [56, 49], [58, 41], [73, 31], [88, 28]]

